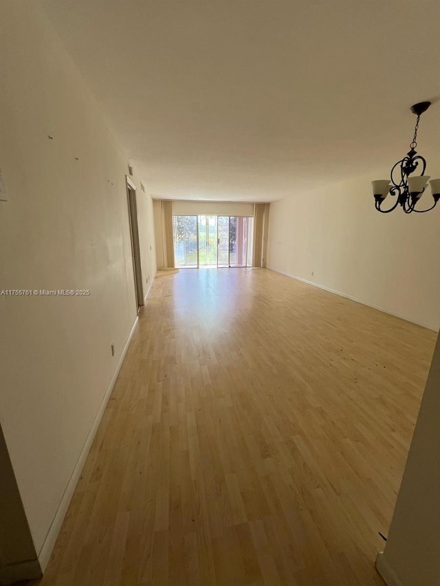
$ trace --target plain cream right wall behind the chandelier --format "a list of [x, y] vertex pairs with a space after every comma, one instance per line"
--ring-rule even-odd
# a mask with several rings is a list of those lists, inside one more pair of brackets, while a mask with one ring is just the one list
[[[438, 153], [420, 152], [438, 177]], [[427, 214], [376, 212], [370, 182], [387, 176], [369, 172], [271, 203], [267, 267], [437, 330], [440, 205]]]

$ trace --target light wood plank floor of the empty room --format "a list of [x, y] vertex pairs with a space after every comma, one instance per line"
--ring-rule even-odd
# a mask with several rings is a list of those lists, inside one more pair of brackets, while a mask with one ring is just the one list
[[157, 279], [32, 584], [381, 585], [434, 340], [265, 269]]

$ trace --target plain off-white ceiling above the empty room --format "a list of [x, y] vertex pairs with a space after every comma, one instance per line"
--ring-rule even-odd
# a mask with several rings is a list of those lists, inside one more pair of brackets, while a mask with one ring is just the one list
[[[158, 198], [272, 201], [391, 167], [409, 106], [440, 95], [438, 0], [41, 3]], [[419, 147], [440, 150], [440, 103]]]

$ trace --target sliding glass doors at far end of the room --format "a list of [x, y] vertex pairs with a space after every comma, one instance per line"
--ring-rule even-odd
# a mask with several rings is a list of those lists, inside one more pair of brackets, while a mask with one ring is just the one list
[[252, 267], [252, 216], [173, 216], [175, 266]]

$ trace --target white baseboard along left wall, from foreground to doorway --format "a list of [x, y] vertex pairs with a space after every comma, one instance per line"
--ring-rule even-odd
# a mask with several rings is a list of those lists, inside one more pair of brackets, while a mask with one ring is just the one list
[[52, 550], [54, 549], [54, 545], [56, 542], [56, 538], [58, 537], [58, 533], [60, 532], [61, 526], [63, 525], [67, 508], [69, 508], [69, 504], [72, 500], [72, 496], [74, 494], [76, 485], [78, 484], [81, 472], [83, 471], [85, 460], [87, 459], [87, 455], [89, 455], [91, 444], [96, 436], [96, 431], [98, 431], [102, 415], [104, 414], [104, 409], [105, 407], [107, 407], [107, 403], [109, 402], [111, 392], [113, 391], [113, 387], [115, 386], [115, 382], [118, 378], [118, 374], [121, 369], [122, 363], [124, 362], [125, 354], [129, 349], [131, 339], [133, 337], [133, 334], [135, 333], [137, 322], [139, 322], [139, 317], [136, 317], [135, 322], [133, 324], [133, 328], [131, 328], [131, 332], [129, 333], [129, 337], [126, 339], [124, 350], [122, 350], [122, 354], [120, 356], [118, 365], [115, 368], [115, 372], [111, 377], [109, 386], [107, 387], [104, 397], [102, 398], [100, 407], [98, 409], [98, 413], [96, 414], [96, 418], [93, 422], [93, 425], [91, 426], [89, 435], [87, 436], [87, 440], [85, 440], [85, 444], [83, 446], [83, 449], [81, 450], [78, 462], [76, 462], [76, 466], [74, 468], [74, 471], [72, 472], [72, 476], [70, 477], [69, 482], [67, 483], [61, 502], [58, 505], [58, 509], [56, 510], [54, 520], [52, 521], [52, 524], [49, 528], [49, 531], [47, 532], [43, 545], [41, 546], [38, 558], [41, 565], [41, 570], [43, 572], [46, 569], [47, 563], [49, 563], [50, 556], [52, 554]]

